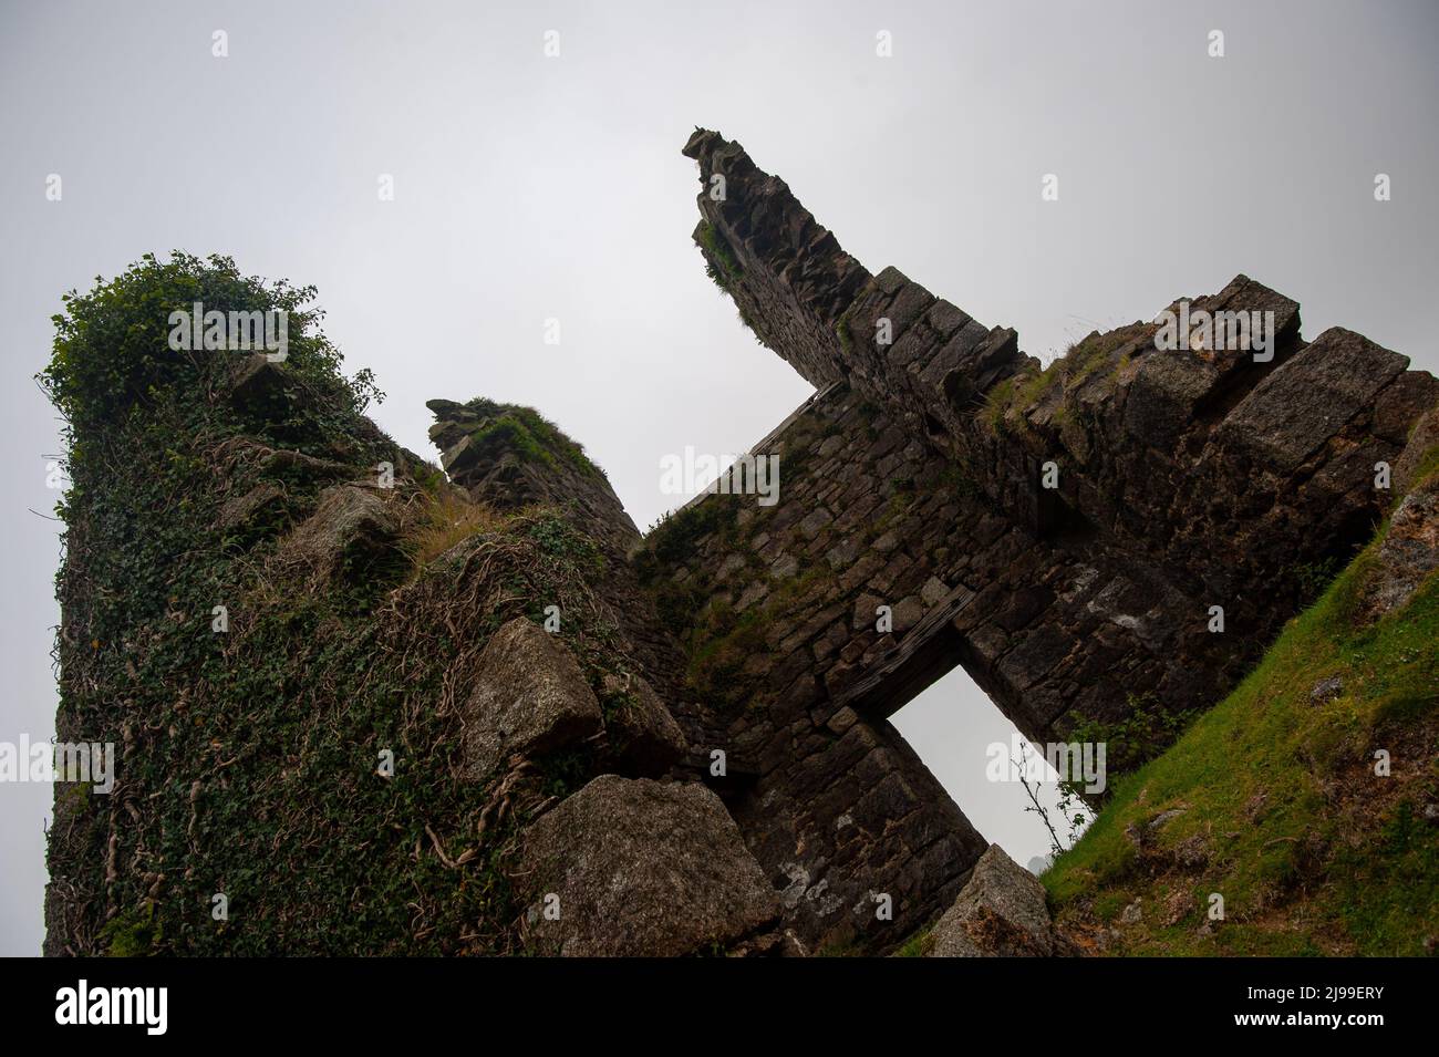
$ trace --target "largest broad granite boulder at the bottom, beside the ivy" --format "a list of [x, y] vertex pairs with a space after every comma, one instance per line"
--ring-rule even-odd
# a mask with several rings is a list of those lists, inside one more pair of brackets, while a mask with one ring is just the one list
[[[724, 804], [696, 782], [596, 778], [524, 831], [515, 884], [528, 943], [547, 955], [724, 952], [780, 910]], [[543, 913], [547, 893], [557, 920]]]

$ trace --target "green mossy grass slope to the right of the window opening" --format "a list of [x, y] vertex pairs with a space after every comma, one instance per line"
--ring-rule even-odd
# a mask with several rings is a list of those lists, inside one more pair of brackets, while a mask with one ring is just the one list
[[[1379, 542], [1227, 699], [1122, 779], [1045, 874], [1061, 928], [1082, 948], [1417, 955], [1433, 945], [1439, 820], [1425, 808], [1439, 801], [1439, 577], [1366, 626], [1358, 601]], [[1330, 676], [1343, 692], [1312, 700]], [[1392, 758], [1387, 778], [1374, 774], [1379, 749]], [[1210, 925], [1216, 892], [1225, 920]], [[1135, 899], [1141, 915], [1125, 920]]]

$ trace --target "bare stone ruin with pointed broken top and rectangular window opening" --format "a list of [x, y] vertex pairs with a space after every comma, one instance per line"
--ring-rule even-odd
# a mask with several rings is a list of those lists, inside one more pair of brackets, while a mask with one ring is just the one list
[[[642, 536], [603, 479], [469, 450], [460, 404], [432, 401], [432, 439], [473, 499], [570, 502], [603, 541], [679, 728], [650, 772], [718, 794], [790, 948], [889, 951], [989, 844], [888, 718], [955, 666], [1036, 743], [1215, 703], [1304, 571], [1367, 542], [1394, 495], [1377, 467], [1404, 465], [1439, 381], [1343, 328], [1307, 341], [1298, 303], [1243, 275], [1187, 311], [1272, 314], [1265, 355], [1160, 351], [1135, 322], [1043, 371], [1013, 329], [866, 270], [740, 144], [696, 129], [684, 152], [711, 278], [816, 390], [748, 453], [780, 457], [778, 503], [702, 495]], [[741, 935], [766, 896], [735, 884]]]

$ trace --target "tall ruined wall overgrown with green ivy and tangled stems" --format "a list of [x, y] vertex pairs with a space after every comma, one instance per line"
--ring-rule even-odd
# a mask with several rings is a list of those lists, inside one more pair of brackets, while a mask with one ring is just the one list
[[[604, 590], [622, 559], [573, 508], [473, 502], [383, 436], [311, 293], [147, 257], [56, 319], [58, 738], [114, 745], [115, 785], [56, 787], [47, 953], [519, 951], [525, 825], [655, 769], [642, 650]], [[289, 311], [288, 358], [170, 348], [196, 301]], [[485, 647], [547, 607], [602, 726], [475, 775]]]

